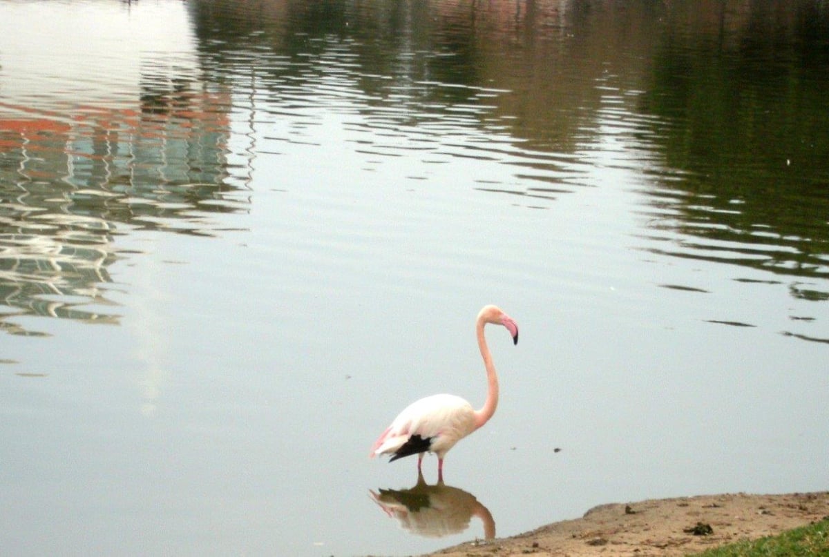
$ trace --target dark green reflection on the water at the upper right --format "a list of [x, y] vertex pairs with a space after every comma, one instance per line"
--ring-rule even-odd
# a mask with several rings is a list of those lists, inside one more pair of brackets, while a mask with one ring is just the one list
[[655, 203], [700, 239], [674, 254], [826, 279], [827, 12], [722, 2], [667, 18], [640, 109], [659, 116], [657, 148], [683, 172], [661, 184], [681, 195]]

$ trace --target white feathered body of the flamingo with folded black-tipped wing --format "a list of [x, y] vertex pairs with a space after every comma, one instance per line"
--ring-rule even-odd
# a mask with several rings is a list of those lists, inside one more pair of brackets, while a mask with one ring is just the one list
[[459, 396], [434, 395], [407, 406], [371, 447], [371, 456], [392, 454], [391, 460], [411, 454], [443, 456], [475, 429], [472, 405]]

